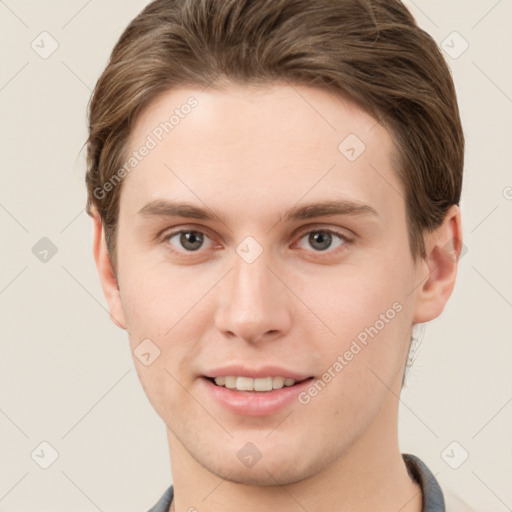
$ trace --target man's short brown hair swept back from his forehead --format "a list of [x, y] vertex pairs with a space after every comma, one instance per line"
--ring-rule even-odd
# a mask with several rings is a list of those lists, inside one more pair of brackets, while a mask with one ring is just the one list
[[89, 103], [86, 209], [101, 216], [114, 268], [122, 183], [103, 187], [134, 123], [162, 92], [217, 77], [321, 87], [374, 116], [396, 145], [411, 252], [425, 255], [425, 231], [460, 200], [464, 136], [450, 70], [400, 1], [155, 0], [124, 30]]

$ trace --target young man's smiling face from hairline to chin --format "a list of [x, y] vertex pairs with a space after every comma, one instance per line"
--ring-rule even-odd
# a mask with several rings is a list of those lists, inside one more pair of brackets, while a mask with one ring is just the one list
[[274, 485], [392, 428], [423, 276], [388, 131], [319, 89], [183, 88], [133, 151], [109, 303], [171, 444]]

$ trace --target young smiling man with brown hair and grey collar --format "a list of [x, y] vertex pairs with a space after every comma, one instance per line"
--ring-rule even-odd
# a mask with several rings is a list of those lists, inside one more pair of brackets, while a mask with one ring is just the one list
[[101, 284], [167, 427], [152, 510], [454, 510], [397, 437], [413, 327], [455, 283], [464, 155], [405, 7], [157, 0], [89, 121]]

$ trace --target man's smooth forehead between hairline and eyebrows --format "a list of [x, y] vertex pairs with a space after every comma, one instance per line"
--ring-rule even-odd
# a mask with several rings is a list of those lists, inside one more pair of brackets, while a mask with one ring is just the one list
[[134, 165], [127, 166], [121, 209], [133, 213], [167, 197], [208, 199], [223, 211], [243, 205], [270, 212], [306, 195], [335, 192], [383, 206], [402, 195], [393, 153], [383, 126], [322, 89], [279, 83], [176, 88], [156, 98], [135, 124], [127, 155]]

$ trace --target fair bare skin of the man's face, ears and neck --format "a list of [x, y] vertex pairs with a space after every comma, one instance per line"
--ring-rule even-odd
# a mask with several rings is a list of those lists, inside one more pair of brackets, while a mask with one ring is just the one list
[[[173, 509], [420, 511], [398, 446], [398, 397], [411, 328], [442, 312], [455, 283], [457, 258], [445, 248], [452, 241], [459, 254], [459, 209], [415, 260], [389, 132], [306, 86], [173, 89], [138, 119], [131, 150], [190, 96], [198, 106], [122, 184], [117, 279], [94, 215], [111, 318], [132, 350], [146, 338], [160, 350], [149, 366], [134, 362], [167, 426]], [[366, 146], [353, 162], [338, 150], [351, 133]], [[222, 220], [139, 213], [156, 199], [206, 205]], [[375, 213], [284, 218], [326, 200]], [[187, 252], [171, 237], [179, 229], [204, 233], [203, 245]], [[322, 229], [342, 237], [319, 250], [309, 235]], [[263, 249], [252, 263], [236, 252], [247, 236]], [[307, 405], [240, 416], [205, 391], [202, 375], [228, 363], [320, 378], [397, 302], [401, 311]], [[237, 457], [247, 442], [262, 455], [252, 467]]]

